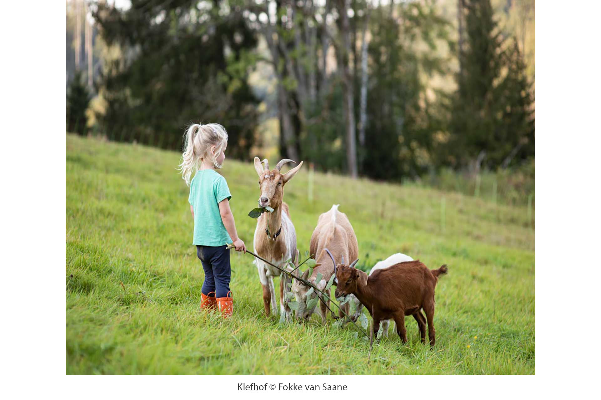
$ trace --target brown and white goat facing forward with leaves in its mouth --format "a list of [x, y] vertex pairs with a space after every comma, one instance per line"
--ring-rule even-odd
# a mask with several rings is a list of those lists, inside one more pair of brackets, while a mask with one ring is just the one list
[[[279, 161], [274, 169], [269, 170], [269, 163], [263, 160], [264, 167], [258, 157], [255, 157], [255, 170], [259, 176], [259, 189], [261, 195], [258, 199], [260, 207], [271, 207], [273, 212], [264, 212], [257, 219], [257, 228], [253, 240], [254, 251], [257, 255], [265, 258], [267, 261], [275, 264], [282, 269], [291, 270], [285, 265], [285, 261], [290, 258], [293, 263], [298, 263], [296, 249], [296, 231], [290, 219], [288, 204], [284, 203], [284, 185], [296, 175], [302, 167], [301, 163], [286, 173], [281, 173], [280, 169], [286, 163], [294, 161], [285, 158]], [[273, 268], [255, 258], [259, 279], [263, 286], [263, 305], [265, 314], [270, 315], [278, 313], [277, 302], [275, 299], [275, 288], [273, 287], [273, 277], [281, 275], [279, 269]], [[285, 315], [285, 319], [290, 318], [290, 308], [285, 306], [284, 291], [287, 279], [282, 276], [279, 282], [279, 302], [280, 312]]]

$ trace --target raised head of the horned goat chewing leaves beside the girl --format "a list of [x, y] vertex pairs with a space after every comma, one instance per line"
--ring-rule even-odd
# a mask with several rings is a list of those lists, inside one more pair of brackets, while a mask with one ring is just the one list
[[272, 170], [269, 170], [267, 159], [263, 160], [263, 163], [264, 166], [261, 165], [259, 158], [255, 157], [255, 170], [259, 176], [259, 188], [261, 190], [258, 204], [259, 207], [272, 207], [275, 209], [279, 207], [284, 200], [284, 185], [296, 175], [299, 169], [301, 169], [302, 161], [301, 164], [297, 165], [287, 173], [281, 173], [281, 168], [284, 164], [296, 163], [296, 161], [284, 158], [284, 160], [279, 161], [278, 165]]

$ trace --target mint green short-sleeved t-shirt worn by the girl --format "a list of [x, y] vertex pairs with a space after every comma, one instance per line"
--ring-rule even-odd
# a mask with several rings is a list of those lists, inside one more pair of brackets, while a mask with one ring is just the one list
[[224, 199], [231, 199], [225, 178], [215, 170], [198, 171], [190, 183], [188, 198], [194, 210], [193, 245], [223, 246], [233, 241], [219, 213], [219, 203]]

